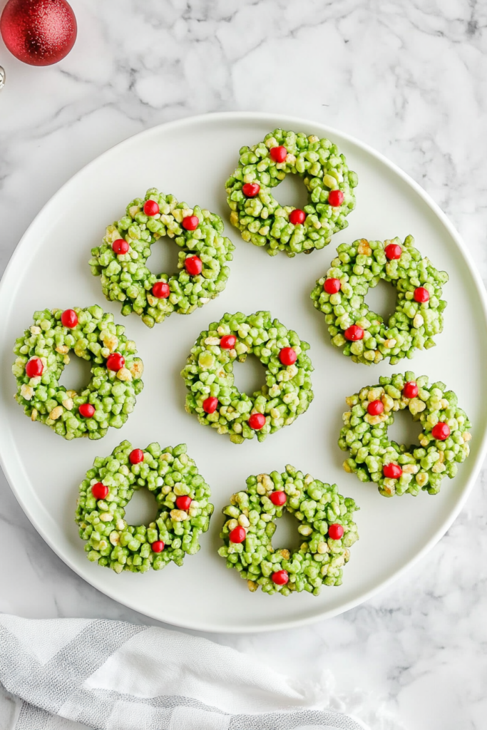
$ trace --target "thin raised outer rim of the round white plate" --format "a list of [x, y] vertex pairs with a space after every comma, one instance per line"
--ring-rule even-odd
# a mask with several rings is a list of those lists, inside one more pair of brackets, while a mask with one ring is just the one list
[[[409, 174], [404, 172], [396, 163], [389, 160], [386, 155], [383, 155], [383, 153], [378, 152], [375, 150], [374, 147], [371, 147], [367, 144], [367, 142], [362, 142], [361, 139], [358, 139], [354, 137], [351, 134], [348, 134], [344, 131], [341, 131], [340, 129], [337, 129], [332, 126], [328, 126], [326, 123], [318, 122], [316, 120], [310, 120], [303, 117], [296, 117], [294, 115], [288, 115], [288, 114], [281, 114], [280, 112], [242, 112], [242, 111], [231, 111], [231, 112], [210, 112], [205, 114], [199, 114], [199, 115], [192, 115], [188, 117], [183, 117], [180, 119], [172, 120], [170, 122], [164, 122], [161, 124], [157, 124], [155, 126], [152, 126], [148, 129], [136, 132], [134, 134], [129, 135], [129, 137], [126, 137], [125, 139], [122, 139], [120, 142], [117, 142], [117, 144], [112, 145], [112, 147], [109, 147], [107, 150], [104, 150], [100, 155], [96, 155], [91, 161], [89, 161], [87, 164], [85, 164], [83, 167], [81, 167], [77, 172], [75, 172], [71, 177], [66, 180], [63, 185], [61, 185], [60, 188], [58, 188], [57, 191], [53, 194], [53, 196], [48, 199], [45, 204], [42, 206], [41, 210], [37, 213], [37, 215], [34, 217], [34, 219], [31, 221], [31, 223], [26, 228], [26, 231], [23, 233], [22, 237], [20, 237], [20, 240], [18, 244], [16, 245], [11, 257], [9, 258], [9, 262], [4, 270], [4, 273], [1, 276], [0, 280], [0, 311], [2, 308], [2, 302], [7, 296], [8, 287], [9, 287], [9, 280], [10, 280], [10, 272], [12, 272], [13, 269], [15, 269], [15, 266], [17, 266], [18, 259], [20, 259], [21, 255], [23, 254], [23, 248], [26, 246], [26, 241], [29, 237], [31, 228], [34, 228], [37, 226], [37, 221], [42, 218], [43, 215], [47, 215], [47, 212], [49, 212], [51, 207], [55, 206], [55, 202], [58, 199], [58, 196], [61, 196], [61, 194], [64, 191], [64, 188], [66, 188], [68, 185], [72, 183], [73, 180], [77, 179], [77, 177], [80, 177], [82, 174], [85, 174], [88, 169], [90, 169], [91, 166], [94, 166], [95, 164], [99, 164], [99, 161], [101, 161], [105, 156], [109, 155], [113, 152], [113, 150], [116, 150], [121, 145], [126, 145], [131, 140], [135, 139], [136, 137], [143, 137], [147, 136], [150, 137], [151, 134], [157, 134], [158, 131], [161, 131], [161, 129], [164, 129], [165, 131], [172, 131], [174, 128], [182, 128], [185, 126], [191, 126], [191, 125], [198, 125], [201, 122], [207, 122], [209, 119], [212, 119], [215, 123], [218, 123], [219, 121], [226, 121], [226, 120], [268, 120], [270, 118], [279, 118], [280, 123], [285, 124], [288, 126], [288, 128], [306, 128], [307, 126], [313, 128], [313, 127], [320, 127], [323, 130], [326, 130], [326, 134], [329, 134], [330, 137], [333, 137], [334, 134], [336, 134], [339, 137], [342, 137], [342, 139], [345, 139], [347, 142], [350, 142], [352, 145], [356, 145], [361, 150], [363, 150], [365, 153], [370, 155], [372, 158], [375, 158], [377, 161], [379, 161], [381, 164], [386, 166], [391, 172], [396, 174], [399, 178], [401, 178], [404, 183], [410, 186], [410, 188], [413, 188], [413, 191], [420, 196], [420, 198], [423, 200], [423, 202], [429, 207], [430, 210], [434, 213], [436, 218], [440, 220], [443, 226], [445, 226], [446, 230], [448, 231], [448, 234], [450, 234], [450, 237], [453, 239], [453, 241], [456, 244], [456, 247], [458, 247], [465, 264], [467, 265], [467, 268], [469, 270], [469, 274], [472, 277], [473, 282], [475, 283], [475, 288], [478, 293], [478, 296], [480, 298], [480, 303], [482, 305], [483, 310], [483, 316], [484, 320], [487, 323], [487, 292], [483, 285], [483, 280], [480, 277], [480, 274], [478, 272], [478, 269], [475, 267], [475, 262], [472, 258], [472, 255], [470, 254], [469, 250], [467, 249], [466, 245], [464, 244], [463, 239], [461, 238], [459, 232], [456, 230], [456, 228], [453, 226], [453, 223], [450, 222], [447, 215], [441, 210], [440, 206], [432, 199], [432, 197], [429, 195], [429, 193], [426, 193], [425, 190], [416, 183], [415, 180], [413, 180], [412, 177], [410, 177]], [[257, 634], [264, 631], [283, 631], [286, 629], [297, 629], [301, 626], [309, 626], [312, 623], [316, 623], [317, 621], [324, 621], [325, 619], [334, 618], [334, 616], [340, 615], [342, 613], [345, 613], [359, 605], [361, 605], [364, 602], [369, 601], [373, 596], [376, 596], [378, 593], [382, 592], [383, 590], [386, 590], [389, 585], [394, 583], [397, 579], [402, 577], [405, 572], [407, 572], [409, 569], [413, 568], [418, 561], [420, 561], [424, 556], [426, 556], [427, 553], [429, 553], [432, 548], [434, 548], [434, 545], [437, 544], [437, 542], [440, 541], [440, 539], [445, 535], [445, 533], [450, 529], [450, 526], [453, 524], [453, 522], [458, 517], [459, 513], [461, 512], [462, 508], [464, 507], [465, 502], [467, 501], [470, 493], [472, 492], [472, 489], [475, 485], [475, 482], [478, 478], [478, 475], [480, 473], [480, 469], [483, 464], [483, 460], [486, 457], [487, 454], [487, 428], [484, 429], [482, 437], [480, 439], [480, 446], [478, 450], [478, 455], [476, 457], [475, 465], [472, 466], [470, 476], [467, 480], [466, 485], [464, 486], [464, 489], [461, 493], [461, 496], [459, 496], [459, 500], [456, 504], [456, 507], [451, 510], [451, 512], [448, 513], [448, 517], [445, 518], [445, 520], [442, 521], [440, 524], [440, 527], [432, 534], [432, 537], [430, 537], [429, 541], [426, 542], [426, 544], [423, 546], [421, 550], [419, 550], [418, 553], [415, 554], [413, 558], [410, 558], [409, 561], [407, 561], [406, 564], [402, 566], [402, 568], [396, 570], [392, 575], [389, 575], [386, 579], [380, 581], [380, 583], [377, 583], [377, 585], [374, 586], [374, 588], [371, 588], [366, 593], [362, 593], [360, 597], [355, 599], [350, 599], [350, 601], [346, 602], [345, 604], [342, 604], [340, 607], [336, 607], [334, 609], [328, 609], [323, 610], [322, 612], [307, 616], [304, 618], [294, 618], [291, 620], [283, 619], [282, 621], [277, 621], [277, 624], [274, 624], [273, 626], [268, 626], [266, 624], [257, 623], [256, 625], [252, 626], [232, 626], [231, 628], [226, 628], [224, 630], [224, 633], [226, 634]], [[9, 466], [7, 464], [7, 458], [4, 453], [4, 446], [3, 446], [3, 439], [1, 438], [0, 433], [0, 466], [1, 469], [4, 472], [5, 478], [7, 480], [7, 483], [9, 484], [9, 487], [12, 490], [12, 493], [15, 496], [15, 499], [17, 499], [18, 504], [20, 504], [20, 507], [22, 508], [24, 514], [28, 518], [28, 520], [31, 522], [32, 526], [34, 526], [34, 529], [39, 533], [39, 535], [42, 537], [42, 539], [45, 540], [47, 545], [53, 550], [56, 556], [60, 558], [64, 564], [69, 566], [70, 569], [72, 569], [77, 575], [79, 575], [83, 580], [85, 580], [87, 583], [89, 583], [93, 588], [95, 588], [97, 591], [100, 591], [101, 593], [104, 593], [104, 595], [108, 596], [110, 599], [122, 604], [123, 606], [126, 606], [130, 608], [131, 610], [136, 611], [137, 613], [140, 613], [142, 615], [147, 616], [147, 618], [151, 618], [154, 621], [159, 621], [161, 623], [166, 623], [169, 626], [176, 626], [178, 628], [182, 629], [189, 629], [193, 631], [204, 631], [206, 633], [221, 633], [221, 631], [218, 631], [218, 629], [215, 628], [215, 626], [208, 622], [208, 621], [201, 621], [197, 620], [194, 623], [185, 623], [177, 621], [166, 621], [164, 619], [161, 619], [158, 615], [155, 615], [150, 610], [144, 610], [143, 612], [140, 610], [138, 606], [135, 606], [131, 603], [130, 596], [128, 596], [126, 599], [121, 600], [118, 596], [114, 596], [112, 591], [109, 589], [101, 590], [98, 585], [94, 585], [91, 580], [89, 580], [88, 577], [82, 574], [80, 569], [78, 569], [78, 566], [73, 563], [73, 561], [69, 558], [69, 556], [65, 556], [61, 554], [61, 552], [58, 552], [58, 550], [54, 547], [53, 542], [51, 541], [48, 534], [45, 533], [45, 530], [42, 529], [41, 526], [37, 524], [36, 519], [34, 518], [34, 515], [31, 514], [31, 510], [29, 508], [28, 503], [26, 500], [20, 496], [20, 492], [14, 485], [14, 478], [12, 477], [12, 474], [9, 470]]]

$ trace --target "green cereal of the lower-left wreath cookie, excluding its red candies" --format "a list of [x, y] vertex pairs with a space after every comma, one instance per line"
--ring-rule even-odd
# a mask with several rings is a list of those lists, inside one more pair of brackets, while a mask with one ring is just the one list
[[[115, 573], [145, 573], [151, 567], [161, 570], [170, 561], [181, 566], [185, 553], [198, 552], [199, 536], [210, 525], [210, 487], [186, 453], [185, 444], [165, 449], [156, 442], [149, 444], [140, 464], [131, 464], [131, 450], [131, 443], [123, 441], [110, 456], [96, 457], [80, 484], [76, 522], [81, 539], [88, 541], [88, 560]], [[97, 482], [110, 489], [105, 499], [93, 496], [91, 488]], [[156, 497], [157, 518], [148, 526], [128, 525], [125, 507], [140, 488]], [[191, 506], [187, 511], [176, 509], [177, 496], [185, 494], [191, 496]], [[164, 542], [161, 553], [151, 547], [158, 540]]]

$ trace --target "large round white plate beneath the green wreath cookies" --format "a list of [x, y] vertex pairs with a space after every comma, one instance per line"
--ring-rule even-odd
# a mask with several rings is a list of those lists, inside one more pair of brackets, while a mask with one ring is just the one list
[[[239, 147], [255, 144], [276, 127], [329, 137], [358, 173], [357, 207], [348, 217], [349, 227], [311, 255], [270, 257], [242, 241], [229, 224], [225, 181], [237, 165]], [[277, 189], [277, 197], [282, 204], [303, 204], [302, 183], [297, 181], [301, 188], [293, 188], [290, 178]], [[136, 315], [123, 318], [117, 304], [105, 301], [87, 262], [105, 226], [123, 215], [131, 199], [154, 186], [191, 206], [218, 212], [236, 250], [229, 283], [218, 299], [190, 316], [172, 315], [150, 330]], [[340, 243], [362, 237], [403, 239], [407, 234], [413, 234], [434, 266], [450, 274], [444, 288], [445, 330], [437, 337], [437, 347], [418, 353], [413, 361], [369, 368], [354, 364], [331, 346], [310, 291]], [[34, 310], [93, 303], [113, 312], [137, 342], [145, 362], [145, 388], [123, 429], [110, 429], [101, 441], [66, 442], [42, 424], [31, 423], [13, 400], [12, 346], [31, 325]], [[315, 400], [296, 423], [264, 443], [254, 439], [234, 445], [185, 412], [180, 370], [197, 335], [210, 322], [224, 312], [256, 310], [270, 310], [310, 342]], [[120, 603], [160, 621], [202, 631], [265, 631], [348, 610], [400, 575], [445, 534], [480, 468], [486, 447], [487, 328], [486, 297], [475, 267], [445, 215], [413, 180], [366, 145], [322, 124], [268, 114], [205, 115], [149, 129], [113, 147], [74, 175], [28, 228], [1, 283], [0, 311], [0, 456], [18, 501], [42, 537], [79, 575]], [[66, 368], [68, 386], [73, 367]], [[362, 484], [342, 470], [346, 455], [337, 446], [341, 416], [347, 410], [345, 396], [377, 383], [380, 375], [407, 369], [442, 380], [456, 391], [472, 419], [472, 455], [459, 466], [456, 479], [442, 482], [439, 495], [384, 499], [375, 485]], [[245, 376], [249, 387], [254, 370], [249, 363], [237, 365], [237, 383]], [[202, 536], [199, 553], [186, 557], [182, 569], [171, 564], [160, 573], [115, 575], [85, 557], [74, 523], [77, 485], [93, 458], [107, 455], [123, 439], [141, 447], [151, 441], [163, 446], [186, 442], [211, 485], [215, 515], [210, 531]], [[318, 597], [250, 593], [237, 571], [227, 570], [217, 554], [221, 509], [229, 496], [245, 488], [248, 475], [283, 470], [285, 464], [337, 483], [340, 492], [361, 507], [356, 513], [360, 540], [351, 550], [343, 585], [323, 586]], [[132, 521], [135, 518], [132, 515]], [[280, 521], [285, 524], [281, 529], [278, 523], [275, 547], [285, 545], [283, 530], [290, 532], [288, 520]], [[297, 544], [297, 533], [290, 533], [289, 539]]]

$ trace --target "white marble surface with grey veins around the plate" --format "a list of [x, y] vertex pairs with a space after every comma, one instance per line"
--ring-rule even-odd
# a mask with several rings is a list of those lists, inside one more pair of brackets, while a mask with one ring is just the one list
[[[4, 0], [0, 0], [0, 8]], [[459, 228], [487, 279], [487, 6], [476, 0], [73, 0], [74, 50], [15, 61], [0, 41], [0, 266], [85, 163], [202, 112], [289, 112], [369, 142]], [[456, 523], [386, 593], [285, 634], [219, 635], [285, 672], [334, 672], [408, 730], [481, 730], [487, 716], [484, 470]], [[421, 507], [418, 498], [418, 508]], [[0, 611], [149, 623], [72, 573], [1, 477]], [[15, 562], [9, 556], [15, 553]]]

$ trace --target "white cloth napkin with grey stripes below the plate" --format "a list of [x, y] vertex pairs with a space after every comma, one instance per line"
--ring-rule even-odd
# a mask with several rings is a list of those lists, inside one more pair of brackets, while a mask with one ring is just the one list
[[[346, 705], [329, 679], [307, 686], [179, 631], [0, 615], [0, 730], [369, 728]], [[382, 711], [359, 714], [373, 730], [400, 728]]]

